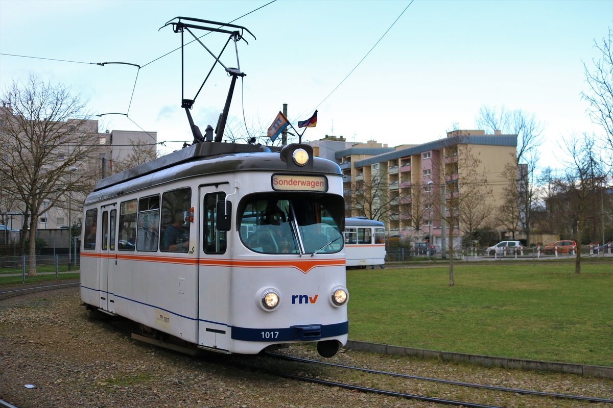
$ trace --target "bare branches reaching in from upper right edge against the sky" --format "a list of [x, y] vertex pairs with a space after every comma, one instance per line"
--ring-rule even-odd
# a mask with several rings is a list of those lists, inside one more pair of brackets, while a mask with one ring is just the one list
[[593, 71], [584, 63], [585, 79], [590, 86], [588, 93], [581, 92], [581, 97], [590, 103], [587, 109], [590, 119], [601, 125], [608, 150], [613, 151], [613, 53], [611, 40], [613, 31], [603, 37], [601, 43], [594, 40], [595, 48], [600, 51], [600, 59], [593, 59]]

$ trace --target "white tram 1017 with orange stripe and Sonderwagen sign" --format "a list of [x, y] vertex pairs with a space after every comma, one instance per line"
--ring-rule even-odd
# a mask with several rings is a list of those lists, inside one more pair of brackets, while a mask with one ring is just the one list
[[342, 177], [307, 145], [217, 142], [107, 177], [85, 202], [81, 298], [169, 342], [332, 356], [348, 333]]

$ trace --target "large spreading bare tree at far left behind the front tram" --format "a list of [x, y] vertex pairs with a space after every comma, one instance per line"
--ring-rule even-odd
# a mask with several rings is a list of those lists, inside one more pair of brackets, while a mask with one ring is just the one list
[[97, 121], [88, 120], [80, 96], [33, 75], [25, 84], [13, 81], [3, 101], [0, 166], [9, 180], [7, 190], [23, 202], [22, 235], [28, 232], [28, 275], [34, 276], [38, 218], [63, 202], [66, 191], [88, 184], [85, 175], [70, 172], [97, 147]]

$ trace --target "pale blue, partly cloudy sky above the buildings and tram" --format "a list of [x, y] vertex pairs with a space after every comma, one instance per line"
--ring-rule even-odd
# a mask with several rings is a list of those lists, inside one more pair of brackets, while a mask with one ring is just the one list
[[[34, 74], [70, 86], [90, 114], [128, 114], [97, 118], [101, 132], [154, 131], [159, 152], [180, 149], [192, 140], [181, 98], [196, 96], [215, 60], [185, 46], [182, 95], [181, 51], [164, 56], [181, 45], [162, 28], [175, 17], [235, 20], [256, 37], [237, 43], [238, 62], [232, 44], [221, 56], [246, 74], [227, 125], [238, 135], [264, 134], [287, 103], [295, 128], [318, 109], [303, 141], [421, 144], [476, 128], [482, 106], [504, 106], [535, 115], [539, 163], [560, 168], [560, 138], [602, 133], [581, 92], [594, 40], [613, 28], [613, 0], [0, 0], [0, 91]], [[218, 54], [227, 39], [200, 40]], [[216, 65], [191, 110], [201, 130], [215, 127], [229, 85]]]

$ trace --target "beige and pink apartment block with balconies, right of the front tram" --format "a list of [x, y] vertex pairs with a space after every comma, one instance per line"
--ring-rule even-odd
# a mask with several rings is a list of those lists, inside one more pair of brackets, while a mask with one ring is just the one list
[[[368, 201], [361, 190], [370, 188], [373, 190], [369, 203], [373, 207], [371, 213], [378, 210], [379, 221], [386, 224], [390, 236], [414, 236], [419, 231], [423, 239], [441, 245], [443, 237], [449, 236], [449, 226], [441, 220], [440, 213], [436, 216], [432, 209], [433, 201], [428, 197], [440, 196], [444, 185], [461, 190], [462, 180], [471, 176], [462, 174], [465, 171], [462, 163], [469, 156], [476, 157], [477, 164], [471, 172], [483, 174], [487, 179], [484, 189], [491, 190], [491, 194], [484, 199], [487, 201], [484, 204], [497, 209], [508, 183], [504, 172], [508, 166], [515, 166], [517, 135], [501, 135], [500, 132], [486, 135], [483, 130], [457, 130], [447, 133], [444, 139], [394, 148], [376, 141], [352, 143], [345, 149], [334, 150], [332, 159], [333, 149], [329, 146], [333, 142], [337, 147], [340, 147], [340, 142], [346, 143], [334, 136], [326, 136], [316, 143], [326, 146], [326, 154], [322, 154], [322, 148], [319, 148], [320, 156], [337, 161], [346, 176], [347, 216], [362, 215], [363, 209], [356, 208], [356, 205], [362, 206], [361, 201]], [[383, 208], [377, 209], [376, 206]], [[491, 215], [490, 224], [494, 225], [495, 214], [492, 212]], [[454, 228], [458, 240], [462, 231], [460, 227], [456, 224]]]

